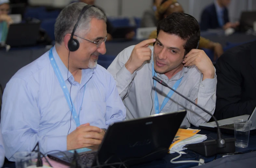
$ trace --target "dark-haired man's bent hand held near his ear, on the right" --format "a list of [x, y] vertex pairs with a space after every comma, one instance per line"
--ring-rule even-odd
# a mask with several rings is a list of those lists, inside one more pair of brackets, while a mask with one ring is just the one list
[[184, 66], [195, 65], [197, 69], [203, 74], [203, 80], [214, 78], [214, 66], [203, 50], [192, 49], [186, 56]]

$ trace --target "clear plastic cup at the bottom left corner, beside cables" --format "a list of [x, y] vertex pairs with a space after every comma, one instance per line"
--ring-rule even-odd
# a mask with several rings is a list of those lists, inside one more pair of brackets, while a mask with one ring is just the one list
[[36, 152], [17, 152], [14, 154], [14, 157], [16, 158], [16, 168], [36, 168]]

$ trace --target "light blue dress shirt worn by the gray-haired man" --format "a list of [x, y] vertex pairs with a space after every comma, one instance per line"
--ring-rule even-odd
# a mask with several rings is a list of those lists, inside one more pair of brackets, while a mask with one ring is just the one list
[[[55, 47], [52, 52], [70, 90], [67, 68]], [[126, 109], [116, 89], [115, 79], [106, 69], [97, 65], [94, 69], [82, 70], [81, 84], [74, 81], [70, 72], [68, 76], [72, 83], [71, 99], [81, 124], [108, 128], [111, 123], [126, 118]], [[43, 153], [67, 150], [70, 117], [71, 111], [49, 61], [48, 51], [21, 68], [4, 90], [0, 126], [6, 157], [15, 161], [14, 153], [32, 151], [37, 141]], [[74, 129], [76, 124], [72, 117], [69, 133]]]

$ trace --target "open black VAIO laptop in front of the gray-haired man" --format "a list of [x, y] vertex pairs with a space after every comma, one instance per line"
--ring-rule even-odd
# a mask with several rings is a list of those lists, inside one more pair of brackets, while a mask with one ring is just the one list
[[[78, 163], [87, 167], [115, 162], [134, 165], [161, 159], [168, 153], [186, 113], [186, 110], [160, 113], [114, 123], [100, 146], [76, 150]], [[70, 150], [51, 153], [48, 157], [70, 166], [73, 155], [74, 150]]]

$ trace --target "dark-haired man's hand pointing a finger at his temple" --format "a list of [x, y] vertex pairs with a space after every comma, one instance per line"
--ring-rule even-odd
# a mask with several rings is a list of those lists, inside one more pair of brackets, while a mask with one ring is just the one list
[[125, 64], [126, 69], [130, 73], [134, 73], [134, 71], [140, 68], [145, 61], [151, 59], [151, 50], [148, 48], [148, 45], [153, 42], [155, 42], [155, 39], [147, 39], [135, 45], [130, 58]]

